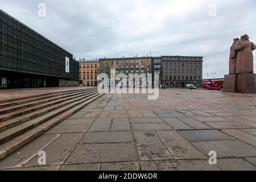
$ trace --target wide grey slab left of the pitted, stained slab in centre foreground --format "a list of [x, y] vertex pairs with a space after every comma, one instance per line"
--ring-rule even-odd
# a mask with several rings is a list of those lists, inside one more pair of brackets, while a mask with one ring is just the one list
[[107, 131], [107, 132], [88, 132], [81, 140], [85, 143], [131, 143], [133, 134], [130, 131]]

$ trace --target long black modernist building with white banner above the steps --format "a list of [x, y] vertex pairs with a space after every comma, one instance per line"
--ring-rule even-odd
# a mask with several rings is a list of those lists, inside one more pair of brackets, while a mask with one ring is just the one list
[[0, 88], [79, 85], [73, 55], [0, 10]]

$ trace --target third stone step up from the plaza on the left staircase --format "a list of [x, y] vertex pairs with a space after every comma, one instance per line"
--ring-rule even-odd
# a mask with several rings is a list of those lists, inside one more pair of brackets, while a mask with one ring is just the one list
[[7, 121], [1, 122], [0, 123], [0, 132], [5, 131], [6, 129], [9, 129], [10, 127], [14, 127], [16, 125], [19, 125], [20, 123], [29, 121], [30, 119], [40, 117], [43, 114], [47, 114], [51, 111], [54, 111], [56, 109], [59, 109], [59, 108], [65, 106], [65, 105], [71, 104], [72, 102], [79, 101], [79, 100], [84, 99], [86, 97], [92, 96], [95, 93], [96, 92], [89, 92], [89, 93], [83, 94], [82, 96], [77, 97], [73, 100], [60, 102], [59, 104], [48, 106], [44, 109], [36, 110], [36, 111], [33, 111], [32, 113], [24, 114], [24, 115], [21, 115], [20, 117], [16, 117], [16, 118], [9, 119]]

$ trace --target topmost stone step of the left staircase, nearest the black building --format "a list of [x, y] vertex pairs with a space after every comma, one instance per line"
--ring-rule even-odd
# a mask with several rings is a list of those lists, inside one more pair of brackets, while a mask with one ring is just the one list
[[69, 91], [65, 91], [65, 92], [48, 93], [48, 94], [43, 94], [43, 96], [42, 95], [38, 95], [38, 96], [33, 96], [32, 98], [30, 98], [30, 97], [28, 97], [28, 98], [27, 97], [23, 97], [23, 98], [19, 98], [18, 100], [12, 100], [12, 101], [8, 101], [8, 102], [2, 101], [3, 103], [0, 104], [0, 109], [5, 108], [5, 107], [19, 105], [19, 104], [25, 104], [25, 103], [28, 103], [28, 102], [43, 100], [43, 99], [47, 99], [47, 98], [51, 98], [51, 97], [63, 96], [64, 94], [76, 93], [76, 92], [81, 92], [83, 90], [93, 90], [93, 89], [96, 89], [96, 88], [69, 90]]

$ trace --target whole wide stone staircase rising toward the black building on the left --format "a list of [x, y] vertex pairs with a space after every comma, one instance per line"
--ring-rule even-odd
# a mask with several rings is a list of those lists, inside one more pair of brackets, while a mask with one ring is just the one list
[[0, 159], [100, 98], [108, 90], [69, 90], [0, 101]]

